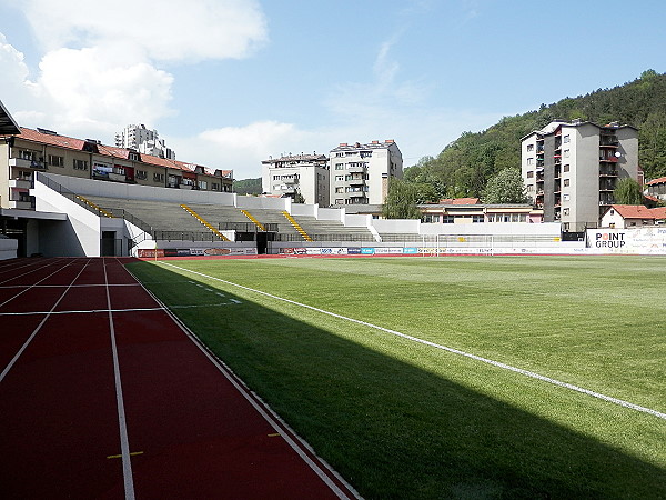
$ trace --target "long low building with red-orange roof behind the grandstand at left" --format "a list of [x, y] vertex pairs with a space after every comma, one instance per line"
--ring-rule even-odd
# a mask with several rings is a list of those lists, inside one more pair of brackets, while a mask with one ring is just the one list
[[21, 127], [0, 137], [0, 208], [34, 208], [29, 189], [34, 172], [137, 183], [174, 189], [231, 192], [232, 170], [143, 154], [104, 146], [93, 139], [60, 136], [52, 130]]

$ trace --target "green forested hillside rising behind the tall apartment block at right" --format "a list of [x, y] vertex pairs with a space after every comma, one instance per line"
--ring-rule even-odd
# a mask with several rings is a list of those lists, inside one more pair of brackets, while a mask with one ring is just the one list
[[554, 119], [618, 121], [639, 129], [639, 163], [645, 179], [666, 176], [666, 74], [644, 71], [640, 78], [613, 89], [566, 98], [538, 111], [505, 117], [482, 132], [464, 132], [436, 158], [422, 158], [405, 170], [405, 180], [435, 199], [478, 197], [501, 170], [521, 167], [521, 138]]

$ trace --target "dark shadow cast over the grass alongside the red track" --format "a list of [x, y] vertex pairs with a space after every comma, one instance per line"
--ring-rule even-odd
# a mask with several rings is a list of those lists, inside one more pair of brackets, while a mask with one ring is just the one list
[[[195, 274], [131, 270], [211, 302]], [[241, 303], [174, 312], [364, 497], [666, 497], [658, 467], [224, 288]]]

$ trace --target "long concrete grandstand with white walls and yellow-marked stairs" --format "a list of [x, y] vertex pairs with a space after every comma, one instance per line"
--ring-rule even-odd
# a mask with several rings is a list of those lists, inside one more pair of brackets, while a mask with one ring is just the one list
[[112, 183], [42, 172], [37, 173], [31, 192], [36, 213], [53, 216], [44, 223], [47, 237], [39, 241], [39, 252], [44, 256], [346, 254], [375, 250], [431, 254], [458, 248], [480, 252], [502, 247], [523, 252], [524, 248], [566, 247], [559, 242], [558, 224], [383, 220], [283, 198]]

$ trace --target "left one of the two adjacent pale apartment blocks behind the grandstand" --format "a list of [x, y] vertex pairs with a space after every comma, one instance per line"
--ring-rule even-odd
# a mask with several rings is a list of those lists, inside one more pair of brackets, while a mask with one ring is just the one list
[[325, 154], [285, 154], [262, 162], [262, 191], [266, 194], [329, 206], [329, 159]]

